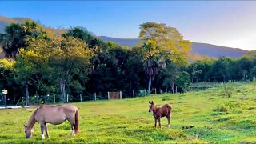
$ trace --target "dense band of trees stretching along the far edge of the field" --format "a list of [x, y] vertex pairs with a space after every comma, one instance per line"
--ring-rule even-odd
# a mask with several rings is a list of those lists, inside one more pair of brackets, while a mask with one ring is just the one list
[[141, 42], [134, 48], [102, 42], [87, 30], [74, 27], [54, 36], [33, 21], [12, 23], [0, 34], [6, 58], [0, 61], [0, 90], [8, 90], [9, 103], [21, 96], [55, 94], [66, 102], [79, 95], [93, 98], [97, 93], [133, 90], [185, 92], [191, 82], [252, 80], [256, 74], [253, 56], [201, 58], [190, 63], [191, 42], [165, 24], [146, 22], [140, 26]]

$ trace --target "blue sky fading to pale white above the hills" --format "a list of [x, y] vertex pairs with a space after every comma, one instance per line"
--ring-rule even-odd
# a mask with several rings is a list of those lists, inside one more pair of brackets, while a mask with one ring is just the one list
[[256, 50], [256, 1], [1, 1], [0, 6], [2, 16], [52, 27], [83, 26], [96, 35], [138, 38], [143, 22], [162, 22], [192, 42]]

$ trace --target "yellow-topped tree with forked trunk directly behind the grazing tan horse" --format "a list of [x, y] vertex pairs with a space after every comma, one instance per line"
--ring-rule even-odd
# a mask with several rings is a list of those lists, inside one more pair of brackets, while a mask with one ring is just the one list
[[[66, 102], [66, 87], [68, 88], [68, 84], [75, 80], [74, 77], [81, 77], [82, 74], [86, 81], [93, 53], [85, 42], [72, 37], [62, 38], [60, 41], [54, 39], [51, 46], [53, 50], [50, 53], [49, 65], [52, 77], [59, 83], [62, 102]], [[75, 85], [79, 86], [80, 83], [77, 81]]]

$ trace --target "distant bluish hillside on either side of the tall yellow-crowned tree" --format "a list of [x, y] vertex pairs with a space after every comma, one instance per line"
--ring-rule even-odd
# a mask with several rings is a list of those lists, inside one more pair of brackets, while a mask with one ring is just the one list
[[[102, 39], [104, 42], [115, 42], [121, 46], [135, 46], [138, 42], [138, 38], [111, 38], [106, 36], [99, 36], [98, 38]], [[209, 57], [218, 58], [219, 56], [226, 56], [231, 58], [239, 58], [244, 54], [247, 54], [249, 51], [242, 49], [235, 49], [226, 46], [216, 46], [207, 43], [192, 43], [191, 53], [198, 53], [200, 55], [208, 55]]]

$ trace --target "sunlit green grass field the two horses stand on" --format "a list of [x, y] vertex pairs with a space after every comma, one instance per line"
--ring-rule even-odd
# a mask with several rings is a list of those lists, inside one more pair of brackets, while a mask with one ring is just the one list
[[[162, 94], [122, 100], [74, 103], [80, 110], [80, 132], [70, 136], [70, 124], [48, 124], [50, 138], [41, 141], [38, 123], [26, 139], [23, 123], [35, 109], [0, 110], [0, 143], [208, 143], [256, 142], [256, 83], [233, 83], [232, 96], [220, 90]], [[171, 128], [162, 118], [154, 129], [148, 101], [173, 105]], [[195, 126], [182, 130], [182, 126]]]

